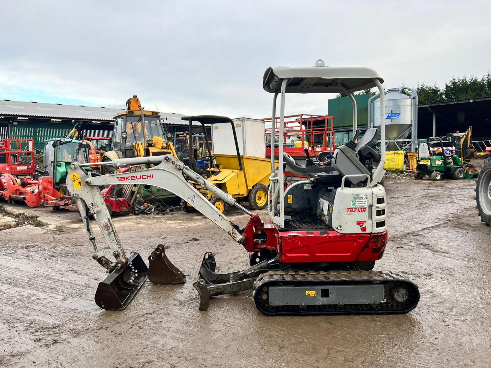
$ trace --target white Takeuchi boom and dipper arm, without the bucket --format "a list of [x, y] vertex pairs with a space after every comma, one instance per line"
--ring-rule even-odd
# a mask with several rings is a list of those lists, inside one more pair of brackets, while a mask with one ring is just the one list
[[[103, 162], [101, 164], [105, 163], [106, 162]], [[117, 263], [125, 263], [127, 259], [109, 215], [109, 210], [106, 208], [104, 198], [101, 195], [99, 189], [99, 186], [101, 185], [144, 184], [158, 186], [169, 190], [212, 220], [237, 242], [240, 244], [245, 244], [246, 238], [239, 233], [237, 228], [230, 221], [228, 221], [228, 219], [221, 214], [215, 208], [215, 206], [213, 206], [205, 197], [201, 195], [201, 193], [199, 193], [191, 184], [188, 183], [186, 177], [212, 191], [227, 204], [239, 207], [248, 213], [250, 212], [236, 203], [232, 196], [204, 180], [199, 174], [185, 166], [179, 159], [173, 157], [172, 155], [164, 155], [146, 158], [121, 158], [107, 163], [115, 167], [145, 163], [158, 163], [158, 165], [148, 169], [139, 170], [137, 172], [126, 172], [101, 176], [92, 176], [83, 169], [84, 166], [88, 166], [89, 164], [73, 162], [70, 165], [70, 169], [68, 171], [70, 180], [67, 180], [67, 187], [77, 201], [82, 219], [86, 224], [89, 239], [94, 245], [95, 253], [93, 258], [104, 267], [108, 269], [115, 266], [117, 267], [117, 264], [109, 263], [109, 261], [105, 258], [107, 255], [113, 255], [116, 258]], [[89, 214], [94, 216], [94, 219], [99, 225], [102, 234], [106, 238], [108, 245], [104, 248], [99, 249], [97, 247], [95, 237], [93, 236], [92, 229], [88, 221]]]

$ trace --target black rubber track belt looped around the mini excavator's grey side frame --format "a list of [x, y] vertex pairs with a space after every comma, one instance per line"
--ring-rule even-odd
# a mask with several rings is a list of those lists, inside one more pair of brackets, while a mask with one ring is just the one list
[[[345, 304], [345, 305], [307, 305], [300, 306], [270, 306], [263, 303], [260, 297], [263, 287], [272, 286], [326, 286], [329, 285], [367, 285], [367, 284], [405, 284], [409, 291], [408, 300], [397, 303], [389, 295], [385, 302], [374, 304]], [[389, 288], [385, 288], [386, 290]], [[339, 315], [339, 314], [383, 314], [408, 313], [419, 301], [419, 290], [416, 284], [403, 276], [377, 271], [269, 271], [261, 274], [254, 282], [254, 301], [256, 307], [265, 315]]]

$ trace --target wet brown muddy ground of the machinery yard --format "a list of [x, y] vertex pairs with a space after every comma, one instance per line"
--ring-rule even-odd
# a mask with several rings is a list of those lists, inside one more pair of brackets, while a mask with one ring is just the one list
[[0, 232], [0, 367], [489, 367], [491, 228], [477, 217], [474, 181], [385, 186], [389, 241], [375, 269], [418, 284], [408, 315], [268, 317], [251, 291], [200, 312], [191, 283], [203, 253], [213, 251], [221, 271], [246, 267], [248, 257], [206, 218], [182, 211], [115, 218], [127, 250], [146, 260], [168, 245], [188, 282], [147, 281], [125, 311], [104, 311], [93, 295], [106, 275], [78, 214], [31, 209], [38, 222]]

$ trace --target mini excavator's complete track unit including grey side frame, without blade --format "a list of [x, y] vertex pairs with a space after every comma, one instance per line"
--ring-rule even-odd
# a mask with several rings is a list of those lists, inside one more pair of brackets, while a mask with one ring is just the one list
[[408, 313], [419, 297], [411, 281], [375, 271], [271, 271], [254, 283], [265, 315]]

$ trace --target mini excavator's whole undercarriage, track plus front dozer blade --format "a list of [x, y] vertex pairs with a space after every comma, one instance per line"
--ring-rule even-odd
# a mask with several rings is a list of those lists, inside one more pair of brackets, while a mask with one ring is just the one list
[[215, 273], [215, 256], [205, 253], [193, 287], [200, 310], [212, 296], [253, 290], [265, 315], [408, 313], [419, 301], [417, 286], [392, 273], [360, 270], [356, 263], [289, 264], [277, 258], [239, 272]]

